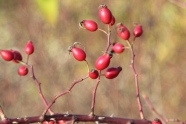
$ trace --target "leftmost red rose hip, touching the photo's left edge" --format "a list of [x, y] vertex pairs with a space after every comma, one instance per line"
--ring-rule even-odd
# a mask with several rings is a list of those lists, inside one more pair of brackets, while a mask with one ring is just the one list
[[10, 50], [1, 50], [1, 57], [5, 61], [11, 61], [14, 58], [14, 54]]

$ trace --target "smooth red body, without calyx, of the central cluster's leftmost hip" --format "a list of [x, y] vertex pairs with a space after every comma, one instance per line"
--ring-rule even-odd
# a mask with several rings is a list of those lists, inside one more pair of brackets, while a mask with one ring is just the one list
[[71, 51], [76, 60], [84, 61], [86, 59], [86, 53], [82, 49], [74, 47]]

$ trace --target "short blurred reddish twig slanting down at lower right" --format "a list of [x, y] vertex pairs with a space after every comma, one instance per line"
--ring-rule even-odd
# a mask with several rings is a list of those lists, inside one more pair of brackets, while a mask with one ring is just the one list
[[152, 105], [152, 103], [150, 102], [149, 98], [146, 95], [143, 95], [143, 98], [145, 99], [145, 102], [147, 103], [147, 105], [149, 106], [150, 110], [164, 123], [166, 124], [166, 120], [165, 118], [159, 114], [156, 109], [154, 108], [154, 106]]

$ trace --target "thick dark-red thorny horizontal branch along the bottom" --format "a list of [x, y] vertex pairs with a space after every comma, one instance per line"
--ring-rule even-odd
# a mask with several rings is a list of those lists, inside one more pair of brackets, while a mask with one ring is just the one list
[[128, 118], [116, 118], [108, 116], [89, 116], [89, 115], [76, 115], [76, 114], [55, 114], [55, 115], [45, 115], [44, 119], [41, 116], [34, 117], [23, 117], [23, 118], [12, 118], [0, 121], [0, 124], [28, 124], [43, 122], [44, 120], [65, 120], [74, 122], [99, 122], [99, 123], [109, 123], [109, 124], [127, 124], [133, 122], [134, 124], [151, 124], [148, 120], [137, 120]]

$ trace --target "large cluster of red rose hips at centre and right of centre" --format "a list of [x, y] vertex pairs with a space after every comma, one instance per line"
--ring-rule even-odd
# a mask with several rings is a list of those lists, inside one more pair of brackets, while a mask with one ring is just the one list
[[[110, 26], [113, 26], [115, 24], [115, 17], [113, 16], [112, 12], [108, 9], [108, 7], [105, 4], [102, 4], [99, 6], [98, 15], [99, 15], [99, 19], [104, 24], [108, 25], [109, 28], [110, 28]], [[98, 28], [97, 23], [93, 20], [83, 20], [79, 23], [79, 25], [81, 28], [84, 28], [84, 29], [91, 31], [91, 32], [100, 30]], [[128, 40], [130, 38], [129, 30], [122, 23], [117, 24], [116, 30], [117, 30], [118, 36], [120, 38], [122, 38], [123, 40]], [[103, 31], [103, 30], [101, 30], [101, 31]], [[107, 32], [105, 32], [105, 31], [103, 31], [103, 32], [108, 35]], [[142, 35], [142, 33], [143, 33], [142, 26], [136, 25], [136, 27], [133, 31], [134, 37], [139, 37]], [[72, 54], [76, 60], [86, 61], [85, 51], [82, 50], [81, 48], [78, 48], [77, 44], [80, 44], [80, 43], [75, 42], [74, 45], [69, 47], [69, 51], [72, 52]], [[103, 55], [98, 57], [98, 59], [95, 62], [95, 69], [91, 69], [89, 71], [89, 77], [92, 79], [97, 79], [98, 76], [103, 75], [103, 74], [100, 74], [101, 70], [104, 70], [109, 66], [110, 60], [113, 56], [113, 53], [119, 54], [119, 53], [122, 53], [124, 50], [125, 50], [125, 46], [123, 44], [113, 43], [110, 51], [106, 51]], [[106, 69], [104, 76], [107, 79], [113, 79], [119, 75], [121, 70], [122, 70], [122, 67], [120, 67], [120, 66], [119, 67], [109, 67]]]

